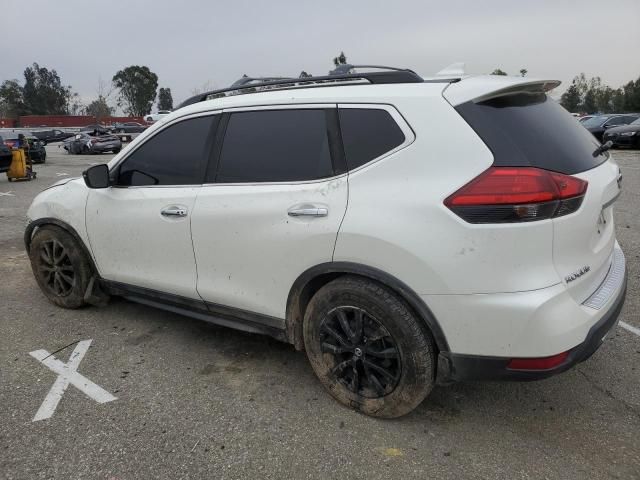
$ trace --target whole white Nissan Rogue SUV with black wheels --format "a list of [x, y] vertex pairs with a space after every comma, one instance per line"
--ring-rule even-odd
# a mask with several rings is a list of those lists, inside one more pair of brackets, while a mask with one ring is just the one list
[[626, 291], [608, 145], [557, 81], [370, 70], [199, 95], [42, 192], [25, 243], [44, 294], [271, 335], [379, 417], [436, 382], [587, 359]]

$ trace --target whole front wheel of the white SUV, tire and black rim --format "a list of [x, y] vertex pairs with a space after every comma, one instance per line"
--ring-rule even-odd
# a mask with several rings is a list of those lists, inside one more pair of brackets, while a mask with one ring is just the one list
[[69, 233], [53, 225], [39, 228], [31, 240], [29, 259], [38, 286], [49, 301], [64, 308], [85, 304], [93, 271], [82, 247]]

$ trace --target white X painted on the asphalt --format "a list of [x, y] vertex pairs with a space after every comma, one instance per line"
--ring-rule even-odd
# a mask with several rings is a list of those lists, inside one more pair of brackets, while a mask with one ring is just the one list
[[91, 380], [77, 372], [78, 366], [80, 365], [84, 355], [87, 353], [87, 350], [89, 350], [91, 342], [91, 339], [78, 342], [78, 345], [73, 350], [73, 353], [71, 353], [71, 357], [67, 363], [62, 363], [46, 350], [34, 350], [29, 353], [33, 358], [38, 360], [54, 373], [58, 374], [58, 378], [53, 383], [53, 386], [42, 402], [42, 405], [40, 405], [40, 408], [36, 412], [35, 417], [33, 417], [32, 422], [51, 418], [69, 384], [72, 384], [78, 390], [98, 403], [107, 403], [117, 400], [116, 397], [111, 395], [105, 389], [96, 385]]

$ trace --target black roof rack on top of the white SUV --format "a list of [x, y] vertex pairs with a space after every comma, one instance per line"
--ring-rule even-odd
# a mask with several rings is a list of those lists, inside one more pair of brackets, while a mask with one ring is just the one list
[[[357, 68], [373, 68], [385, 71], [354, 72]], [[449, 83], [452, 79], [437, 80]], [[182, 102], [178, 108], [186, 107], [205, 100], [221, 98], [246, 93], [263, 92], [268, 90], [290, 90], [295, 88], [334, 86], [334, 85], [362, 85], [362, 84], [390, 84], [390, 83], [423, 83], [424, 79], [413, 70], [385, 67], [381, 65], [338, 65], [329, 75], [318, 77], [242, 77], [230, 87], [199, 93]], [[433, 80], [430, 80], [433, 82]]]

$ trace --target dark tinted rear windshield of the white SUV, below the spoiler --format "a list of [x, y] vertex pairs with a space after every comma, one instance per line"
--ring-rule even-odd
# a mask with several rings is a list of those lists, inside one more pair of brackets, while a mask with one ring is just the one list
[[544, 168], [572, 175], [600, 165], [600, 145], [569, 112], [544, 93], [519, 93], [456, 110], [487, 144], [495, 166]]

